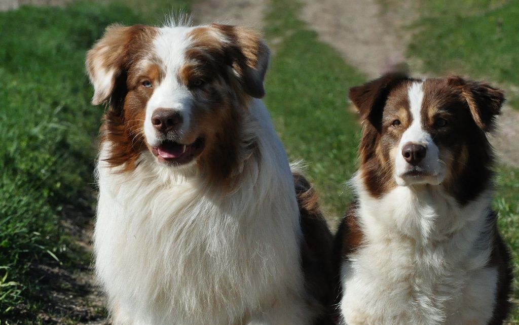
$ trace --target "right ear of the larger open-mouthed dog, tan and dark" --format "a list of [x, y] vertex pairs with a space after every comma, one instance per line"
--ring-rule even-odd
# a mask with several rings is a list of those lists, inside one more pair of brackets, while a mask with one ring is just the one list
[[270, 50], [260, 34], [239, 26], [212, 24], [224, 36], [227, 64], [233, 68], [243, 90], [262, 98], [265, 95], [263, 81], [267, 72]]

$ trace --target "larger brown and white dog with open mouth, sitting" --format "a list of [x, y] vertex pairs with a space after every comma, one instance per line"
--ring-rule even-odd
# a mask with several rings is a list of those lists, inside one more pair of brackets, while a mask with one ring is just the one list
[[220, 24], [114, 25], [88, 52], [109, 105], [94, 253], [115, 324], [326, 321], [332, 237], [258, 99], [268, 59]]

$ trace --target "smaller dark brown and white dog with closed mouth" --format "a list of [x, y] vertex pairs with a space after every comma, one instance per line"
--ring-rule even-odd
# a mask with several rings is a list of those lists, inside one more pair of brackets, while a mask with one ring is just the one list
[[512, 270], [487, 135], [503, 91], [389, 73], [349, 98], [363, 128], [334, 243], [342, 323], [501, 324]]

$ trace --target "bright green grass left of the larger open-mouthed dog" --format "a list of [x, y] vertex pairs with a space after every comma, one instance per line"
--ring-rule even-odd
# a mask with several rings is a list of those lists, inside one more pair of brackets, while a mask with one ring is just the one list
[[61, 224], [92, 205], [102, 109], [89, 103], [85, 53], [106, 25], [156, 23], [166, 3], [141, 16], [113, 1], [0, 13], [0, 320], [42, 306], [38, 265], [89, 264]]

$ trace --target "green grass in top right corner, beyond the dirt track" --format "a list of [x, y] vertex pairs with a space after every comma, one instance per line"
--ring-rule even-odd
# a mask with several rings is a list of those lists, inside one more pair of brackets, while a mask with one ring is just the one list
[[519, 2], [422, 0], [408, 54], [422, 69], [489, 79], [508, 91], [519, 108]]

